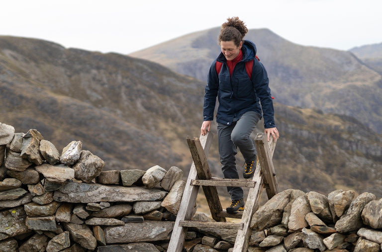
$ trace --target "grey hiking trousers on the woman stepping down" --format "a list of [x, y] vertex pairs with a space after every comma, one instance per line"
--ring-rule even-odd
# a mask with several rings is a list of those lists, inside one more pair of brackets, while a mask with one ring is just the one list
[[[231, 125], [217, 124], [221, 170], [225, 179], [239, 179], [235, 158], [237, 147], [243, 154], [245, 162], [256, 159], [256, 148], [250, 134], [259, 120], [260, 116], [256, 112], [248, 111]], [[232, 200], [244, 198], [243, 189], [240, 187], [227, 187], [227, 190]]]

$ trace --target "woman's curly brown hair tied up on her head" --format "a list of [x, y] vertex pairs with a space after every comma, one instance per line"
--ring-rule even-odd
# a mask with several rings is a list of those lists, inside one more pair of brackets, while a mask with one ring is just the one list
[[221, 41], [233, 41], [236, 46], [239, 46], [247, 32], [247, 26], [239, 17], [229, 17], [227, 22], [221, 25], [219, 44]]

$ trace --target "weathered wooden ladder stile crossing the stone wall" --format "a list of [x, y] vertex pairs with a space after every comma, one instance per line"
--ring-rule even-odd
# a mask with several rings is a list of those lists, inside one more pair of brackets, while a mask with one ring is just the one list
[[[179, 207], [177, 219], [171, 235], [168, 252], [182, 252], [183, 244], [188, 227], [208, 227], [237, 229], [237, 236], [234, 245], [234, 252], [246, 252], [251, 235], [250, 224], [254, 212], [259, 207], [259, 200], [264, 188], [266, 188], [268, 199], [278, 193], [276, 173], [272, 162], [276, 141], [272, 138], [269, 142], [265, 133], [258, 133], [255, 137], [255, 144], [259, 163], [252, 180], [235, 180], [212, 178], [207, 163], [207, 156], [213, 134], [200, 135], [199, 138], [187, 138], [190, 147], [193, 163], [191, 165], [186, 188], [183, 193], [181, 205]], [[216, 222], [192, 221], [196, 196], [202, 187], [211, 211], [212, 219]], [[243, 212], [235, 214], [227, 213], [222, 209], [216, 187], [248, 187], [248, 197], [245, 202]], [[241, 219], [240, 223], [226, 222], [228, 218]]]

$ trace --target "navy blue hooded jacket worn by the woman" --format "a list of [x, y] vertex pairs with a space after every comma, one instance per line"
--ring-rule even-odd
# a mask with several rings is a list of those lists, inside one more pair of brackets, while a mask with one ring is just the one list
[[[262, 63], [255, 60], [250, 79], [245, 69], [245, 62], [255, 59], [256, 45], [249, 40], [244, 40], [241, 50], [243, 59], [235, 65], [232, 76], [229, 74], [227, 60], [222, 53], [211, 64], [205, 87], [203, 121], [213, 121], [217, 96], [219, 107], [216, 122], [231, 125], [234, 118], [238, 120], [245, 112], [255, 111], [260, 118], [264, 114], [265, 128], [275, 127], [267, 70]], [[215, 69], [216, 61], [223, 63], [219, 75]]]

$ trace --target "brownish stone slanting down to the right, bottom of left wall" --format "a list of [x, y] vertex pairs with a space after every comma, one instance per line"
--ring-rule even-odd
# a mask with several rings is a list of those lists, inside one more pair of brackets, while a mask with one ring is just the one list
[[86, 225], [79, 225], [74, 223], [66, 223], [65, 229], [69, 231], [71, 238], [76, 243], [88, 250], [95, 250], [97, 241], [93, 236], [92, 230]]

